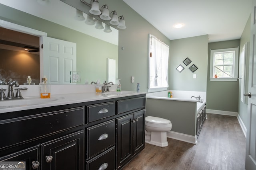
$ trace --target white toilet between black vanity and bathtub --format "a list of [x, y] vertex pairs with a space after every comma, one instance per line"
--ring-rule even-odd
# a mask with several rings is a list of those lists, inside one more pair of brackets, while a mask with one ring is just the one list
[[167, 132], [171, 129], [170, 120], [147, 116], [145, 118], [145, 142], [158, 147], [167, 147]]

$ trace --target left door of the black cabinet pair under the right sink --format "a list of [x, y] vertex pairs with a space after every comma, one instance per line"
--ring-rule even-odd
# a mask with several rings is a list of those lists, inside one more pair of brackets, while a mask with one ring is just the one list
[[117, 119], [117, 167], [119, 168], [129, 160], [132, 153], [133, 114]]

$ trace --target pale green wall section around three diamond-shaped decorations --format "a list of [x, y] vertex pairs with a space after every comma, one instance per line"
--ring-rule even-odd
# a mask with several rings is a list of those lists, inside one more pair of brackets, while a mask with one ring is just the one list
[[[206, 92], [208, 35], [177, 39], [171, 41], [169, 58], [169, 89]], [[182, 61], [192, 61], [186, 66]], [[176, 68], [184, 67], [182, 72]], [[198, 69], [191, 72], [189, 67], [195, 64]], [[196, 74], [196, 78], [193, 78]]]

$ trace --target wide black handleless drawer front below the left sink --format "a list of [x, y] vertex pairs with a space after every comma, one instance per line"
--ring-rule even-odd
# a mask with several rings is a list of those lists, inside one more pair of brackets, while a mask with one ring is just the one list
[[84, 124], [84, 107], [0, 121], [0, 148]]

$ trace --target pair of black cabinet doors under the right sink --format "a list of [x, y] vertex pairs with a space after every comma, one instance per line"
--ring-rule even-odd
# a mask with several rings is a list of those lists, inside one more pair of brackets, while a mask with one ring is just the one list
[[145, 110], [117, 118], [117, 168], [122, 168], [145, 147]]

